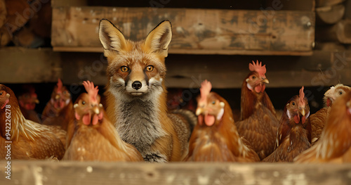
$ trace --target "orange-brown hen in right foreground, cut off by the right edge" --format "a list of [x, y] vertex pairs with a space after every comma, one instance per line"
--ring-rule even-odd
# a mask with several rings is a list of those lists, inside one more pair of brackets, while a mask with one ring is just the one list
[[351, 92], [336, 98], [321, 138], [295, 162], [351, 162]]

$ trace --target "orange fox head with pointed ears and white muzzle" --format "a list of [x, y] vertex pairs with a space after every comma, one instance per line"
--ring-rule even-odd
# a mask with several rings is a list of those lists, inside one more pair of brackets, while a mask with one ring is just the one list
[[152, 91], [163, 91], [166, 76], [164, 59], [171, 42], [171, 23], [159, 23], [140, 42], [125, 39], [109, 20], [102, 19], [99, 37], [108, 60], [108, 90], [112, 94], [144, 96]]

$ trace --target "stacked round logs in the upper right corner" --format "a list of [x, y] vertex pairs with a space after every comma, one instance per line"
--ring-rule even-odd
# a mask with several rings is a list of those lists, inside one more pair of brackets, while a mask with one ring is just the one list
[[351, 49], [351, 0], [316, 0], [316, 49]]

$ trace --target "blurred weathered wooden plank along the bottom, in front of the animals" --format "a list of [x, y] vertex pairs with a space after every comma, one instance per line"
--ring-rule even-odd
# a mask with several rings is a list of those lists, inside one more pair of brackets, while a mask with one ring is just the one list
[[[2, 166], [5, 165], [1, 160]], [[2, 175], [4, 177], [4, 174]], [[47, 162], [11, 160], [1, 184], [348, 184], [351, 165], [288, 163]]]

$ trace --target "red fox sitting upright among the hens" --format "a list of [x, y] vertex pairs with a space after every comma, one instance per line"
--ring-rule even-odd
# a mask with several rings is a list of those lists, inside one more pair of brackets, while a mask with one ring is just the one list
[[102, 19], [99, 37], [107, 57], [107, 115], [121, 139], [133, 144], [147, 162], [183, 160], [194, 113], [168, 113], [164, 85], [171, 42], [171, 23], [159, 23], [140, 42], [126, 40], [109, 20]]

